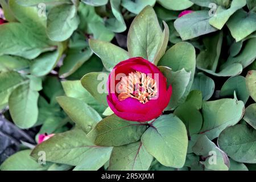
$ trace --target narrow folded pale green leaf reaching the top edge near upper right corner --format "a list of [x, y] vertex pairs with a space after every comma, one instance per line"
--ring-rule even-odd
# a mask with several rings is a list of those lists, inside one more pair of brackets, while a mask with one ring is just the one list
[[229, 9], [219, 6], [216, 10], [216, 14], [209, 19], [210, 25], [218, 28], [218, 30], [221, 30], [228, 21], [229, 17], [245, 5], [246, 0], [233, 0]]

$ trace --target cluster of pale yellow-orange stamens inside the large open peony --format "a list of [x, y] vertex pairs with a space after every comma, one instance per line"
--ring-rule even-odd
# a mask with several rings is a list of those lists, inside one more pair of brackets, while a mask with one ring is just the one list
[[118, 100], [123, 101], [126, 98], [135, 98], [142, 104], [156, 96], [158, 87], [156, 81], [141, 72], [131, 72], [128, 76], [121, 77], [117, 84]]

